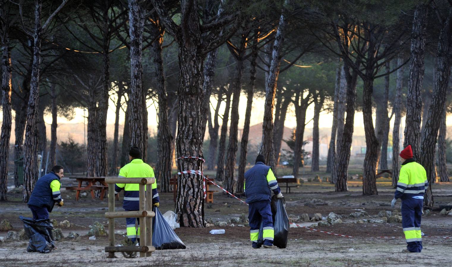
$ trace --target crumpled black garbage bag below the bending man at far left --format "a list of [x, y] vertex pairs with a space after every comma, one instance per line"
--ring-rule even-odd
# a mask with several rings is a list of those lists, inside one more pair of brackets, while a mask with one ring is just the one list
[[28, 243], [28, 252], [49, 253], [55, 247], [53, 243], [52, 223], [50, 219], [34, 220], [19, 216], [24, 222], [25, 234], [30, 239]]

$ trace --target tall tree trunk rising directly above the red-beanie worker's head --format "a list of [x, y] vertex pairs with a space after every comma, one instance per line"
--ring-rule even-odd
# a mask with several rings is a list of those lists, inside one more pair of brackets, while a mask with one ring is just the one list
[[411, 32], [410, 75], [406, 97], [405, 141], [403, 147], [411, 145], [413, 155], [419, 159], [422, 111], [422, 82], [424, 80], [425, 38], [428, 4], [420, 4], [414, 11]]

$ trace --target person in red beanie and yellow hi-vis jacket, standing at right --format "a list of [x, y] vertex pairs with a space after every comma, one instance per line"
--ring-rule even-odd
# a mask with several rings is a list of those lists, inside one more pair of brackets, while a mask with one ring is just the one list
[[424, 193], [428, 188], [427, 174], [424, 167], [417, 163], [413, 157], [411, 145], [400, 152], [400, 161], [402, 167], [400, 168], [399, 181], [391, 207], [395, 207], [397, 199], [402, 200], [400, 211], [402, 212], [402, 227], [407, 243], [407, 249], [402, 250], [402, 252], [421, 252], [420, 227]]

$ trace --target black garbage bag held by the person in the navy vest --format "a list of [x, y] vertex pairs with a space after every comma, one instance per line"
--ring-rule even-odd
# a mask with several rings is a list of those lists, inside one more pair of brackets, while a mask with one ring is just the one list
[[[289, 235], [289, 217], [287, 216], [286, 207], [284, 206], [286, 200], [284, 198], [277, 198], [273, 195], [270, 207], [273, 215], [273, 229], [275, 235], [273, 238], [273, 245], [280, 249], [287, 247], [287, 236]], [[259, 236], [257, 239], [257, 246], [260, 248], [264, 244], [263, 237], [263, 222], [260, 222]]]

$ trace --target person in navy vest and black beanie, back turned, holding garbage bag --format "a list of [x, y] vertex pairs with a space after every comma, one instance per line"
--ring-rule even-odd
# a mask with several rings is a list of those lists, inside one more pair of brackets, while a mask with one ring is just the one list
[[245, 172], [243, 189], [246, 203], [249, 206], [248, 220], [250, 223], [250, 239], [254, 249], [258, 249], [259, 225], [263, 223], [264, 248], [273, 249], [273, 218], [270, 198], [273, 193], [282, 198], [281, 189], [270, 166], [265, 165], [265, 158], [259, 154], [255, 165]]

